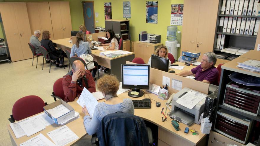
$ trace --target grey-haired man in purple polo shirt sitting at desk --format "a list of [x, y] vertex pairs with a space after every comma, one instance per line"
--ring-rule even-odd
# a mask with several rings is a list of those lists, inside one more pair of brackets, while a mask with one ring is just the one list
[[196, 68], [191, 70], [185, 70], [181, 73], [177, 73], [179, 76], [190, 76], [195, 75], [197, 81], [202, 81], [205, 83], [210, 83], [218, 86], [218, 75], [219, 72], [215, 68], [217, 58], [215, 53], [207, 52], [203, 54], [201, 59], [201, 65], [198, 65]]

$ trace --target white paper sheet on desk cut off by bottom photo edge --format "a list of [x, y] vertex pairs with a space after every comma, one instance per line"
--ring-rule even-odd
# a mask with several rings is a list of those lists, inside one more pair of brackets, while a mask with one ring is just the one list
[[56, 146], [53, 142], [51, 142], [47, 137], [45, 137], [43, 134], [39, 134], [35, 137], [32, 137], [30, 140], [27, 140], [24, 143], [21, 143], [19, 146]]

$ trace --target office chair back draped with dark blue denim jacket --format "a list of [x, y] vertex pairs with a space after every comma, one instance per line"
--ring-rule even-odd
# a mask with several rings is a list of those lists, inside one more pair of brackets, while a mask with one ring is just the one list
[[[96, 136], [99, 141], [96, 140]], [[151, 129], [146, 127], [144, 120], [133, 114], [122, 112], [103, 117], [97, 134], [93, 134], [91, 138], [91, 144], [97, 146], [148, 146], [152, 143]]]

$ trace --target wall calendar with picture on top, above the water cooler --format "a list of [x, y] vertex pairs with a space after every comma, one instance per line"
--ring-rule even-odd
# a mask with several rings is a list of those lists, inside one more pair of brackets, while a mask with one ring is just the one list
[[183, 6], [184, 4], [172, 4], [171, 10], [171, 25], [181, 25], [183, 19]]

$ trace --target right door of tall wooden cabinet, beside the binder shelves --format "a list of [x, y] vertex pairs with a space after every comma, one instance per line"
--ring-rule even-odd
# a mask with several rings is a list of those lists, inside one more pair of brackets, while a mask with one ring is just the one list
[[199, 9], [199, 25], [196, 51], [201, 53], [212, 52], [215, 38], [219, 0], [201, 0]]

